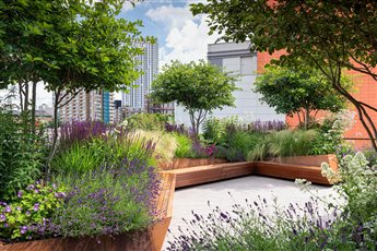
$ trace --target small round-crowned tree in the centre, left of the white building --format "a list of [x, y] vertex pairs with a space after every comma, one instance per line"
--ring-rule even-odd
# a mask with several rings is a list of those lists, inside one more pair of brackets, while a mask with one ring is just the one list
[[163, 67], [163, 73], [153, 82], [151, 98], [155, 103], [176, 101], [184, 106], [198, 134], [207, 113], [234, 106], [235, 81], [235, 75], [203, 60], [186, 64], [173, 61]]

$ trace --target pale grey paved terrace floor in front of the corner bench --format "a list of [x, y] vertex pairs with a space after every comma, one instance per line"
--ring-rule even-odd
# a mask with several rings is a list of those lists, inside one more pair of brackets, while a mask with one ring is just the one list
[[[335, 195], [334, 190], [330, 187], [311, 186], [311, 188], [321, 198], [329, 194]], [[232, 194], [232, 198], [228, 193]], [[290, 203], [304, 205], [311, 196], [307, 192], [301, 191], [294, 181], [258, 176], [177, 189], [174, 195], [170, 232], [167, 234], [163, 250], [167, 247], [168, 240], [172, 240], [175, 235], [179, 235], [178, 226], [186, 229], [182, 218], [192, 219], [191, 211], [204, 216], [211, 212], [208, 201], [212, 208], [219, 206], [222, 211], [232, 212], [233, 204], [245, 204], [245, 199], [248, 199], [250, 203], [258, 201], [258, 195], [267, 199], [271, 205], [273, 198], [276, 198], [281, 206], [287, 206]]]

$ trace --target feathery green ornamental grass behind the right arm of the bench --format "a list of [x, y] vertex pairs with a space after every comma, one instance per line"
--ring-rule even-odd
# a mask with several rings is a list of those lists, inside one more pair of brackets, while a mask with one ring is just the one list
[[284, 130], [270, 133], [254, 147], [248, 154], [248, 159], [264, 160], [272, 157], [308, 155], [316, 136], [315, 130]]

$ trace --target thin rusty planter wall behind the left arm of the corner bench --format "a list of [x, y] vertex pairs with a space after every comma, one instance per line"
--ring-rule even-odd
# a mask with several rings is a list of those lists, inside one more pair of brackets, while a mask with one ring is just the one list
[[174, 170], [187, 167], [207, 166], [227, 163], [222, 158], [174, 158], [170, 163], [162, 163], [158, 167], [163, 170]]

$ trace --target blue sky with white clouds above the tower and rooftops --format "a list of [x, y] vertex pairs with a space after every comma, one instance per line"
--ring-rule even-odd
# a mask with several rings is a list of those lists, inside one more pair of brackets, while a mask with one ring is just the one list
[[[204, 15], [193, 16], [190, 4], [205, 0], [144, 0], [133, 8], [126, 2], [119, 17], [129, 21], [141, 20], [143, 36], [154, 36], [158, 44], [160, 69], [172, 60], [182, 62], [207, 58], [208, 44], [219, 36], [209, 36]], [[52, 105], [52, 95], [38, 84], [37, 105]], [[120, 94], [116, 95], [120, 98]]]

